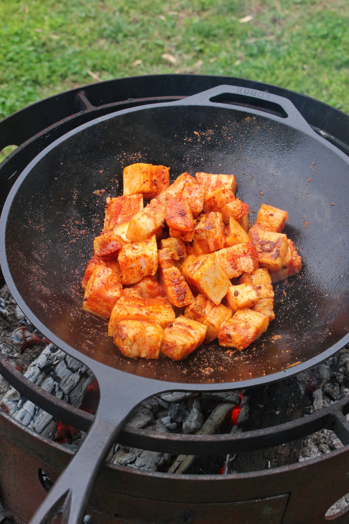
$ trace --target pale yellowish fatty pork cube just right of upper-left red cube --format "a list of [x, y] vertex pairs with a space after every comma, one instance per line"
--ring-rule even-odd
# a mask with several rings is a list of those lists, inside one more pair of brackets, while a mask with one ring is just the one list
[[165, 232], [165, 206], [157, 199], [134, 215], [129, 222], [126, 237], [131, 242], [141, 242], [155, 235], [157, 239]]

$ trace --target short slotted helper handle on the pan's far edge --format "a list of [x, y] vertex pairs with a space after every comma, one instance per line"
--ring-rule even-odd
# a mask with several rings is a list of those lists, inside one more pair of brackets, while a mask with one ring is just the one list
[[[299, 113], [290, 100], [284, 96], [258, 91], [257, 89], [242, 88], [237, 85], [217, 85], [215, 88], [202, 91], [183, 100], [172, 102], [173, 105], [212, 105], [242, 106], [243, 111], [255, 113], [256, 110], [269, 113], [273, 120], [285, 122], [287, 125], [314, 134], [305, 118]], [[252, 106], [252, 107], [249, 107]], [[316, 135], [318, 136], [318, 135]]]

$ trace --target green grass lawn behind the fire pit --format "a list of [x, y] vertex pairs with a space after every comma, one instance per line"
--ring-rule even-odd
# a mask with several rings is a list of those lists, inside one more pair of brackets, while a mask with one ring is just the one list
[[269, 82], [349, 112], [347, 0], [0, 0], [0, 18], [0, 118], [93, 76], [173, 72]]

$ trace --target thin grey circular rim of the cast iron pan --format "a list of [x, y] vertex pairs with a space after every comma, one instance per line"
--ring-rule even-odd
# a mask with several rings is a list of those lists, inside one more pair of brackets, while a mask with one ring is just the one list
[[[120, 369], [113, 368], [111, 366], [103, 364], [102, 362], [98, 362], [94, 358], [89, 357], [89, 356], [81, 353], [80, 351], [76, 350], [74, 347], [70, 346], [69, 344], [67, 344], [66, 342], [61, 340], [58, 335], [55, 335], [53, 332], [51, 332], [51, 330], [49, 328], [47, 328], [37, 318], [35, 313], [33, 313], [33, 311], [26, 304], [25, 300], [21, 297], [21, 294], [19, 293], [19, 291], [17, 289], [17, 286], [15, 284], [14, 279], [12, 278], [12, 274], [11, 274], [10, 269], [8, 267], [8, 264], [7, 264], [6, 242], [5, 242], [5, 239], [6, 239], [6, 227], [7, 227], [7, 216], [8, 216], [8, 213], [10, 211], [10, 208], [12, 206], [12, 203], [13, 203], [13, 201], [15, 199], [17, 191], [19, 190], [22, 182], [24, 182], [25, 178], [28, 176], [28, 174], [30, 173], [32, 168], [34, 166], [36, 166], [37, 163], [40, 160], [42, 160], [47, 154], [49, 154], [49, 152], [52, 149], [54, 149], [55, 147], [57, 147], [58, 145], [63, 143], [65, 140], [69, 139], [71, 136], [74, 136], [75, 134], [80, 133], [81, 131], [83, 131], [83, 130], [89, 128], [89, 127], [92, 127], [92, 126], [94, 126], [94, 125], [96, 125], [96, 124], [98, 124], [100, 122], [107, 121], [108, 119], [115, 118], [116, 116], [121, 116], [121, 115], [127, 114], [127, 113], [132, 113], [132, 112], [137, 112], [137, 111], [146, 111], [146, 110], [149, 110], [149, 109], [156, 109], [156, 108], [159, 108], [159, 107], [171, 107], [171, 106], [175, 107], [174, 104], [177, 105], [177, 106], [181, 105], [181, 104], [178, 104], [178, 102], [163, 102], [163, 103], [158, 103], [158, 104], [146, 104], [146, 105], [143, 105], [143, 106], [131, 107], [131, 108], [127, 108], [127, 109], [124, 109], [124, 110], [121, 110], [121, 111], [115, 111], [115, 112], [109, 113], [107, 115], [99, 116], [99, 117], [93, 119], [92, 121], [89, 121], [89, 122], [86, 122], [84, 124], [81, 124], [80, 126], [77, 126], [76, 128], [72, 129], [71, 131], [69, 131], [69, 132], [65, 133], [64, 135], [62, 135], [61, 137], [57, 138], [56, 140], [54, 140], [52, 142], [52, 144], [48, 145], [46, 148], [44, 148], [42, 151], [40, 151], [39, 154], [29, 162], [29, 164], [26, 166], [26, 168], [20, 173], [20, 175], [17, 178], [17, 180], [15, 181], [13, 187], [9, 191], [9, 193], [7, 195], [7, 198], [6, 198], [6, 201], [5, 201], [5, 204], [4, 204], [4, 207], [3, 207], [3, 211], [2, 211], [1, 217], [0, 217], [0, 246], [1, 246], [1, 249], [0, 249], [0, 265], [1, 265], [1, 268], [2, 268], [2, 271], [3, 271], [3, 275], [4, 275], [4, 278], [5, 278], [6, 284], [7, 284], [8, 288], [9, 288], [9, 290], [10, 290], [10, 293], [12, 293], [12, 296], [14, 297], [15, 301], [19, 305], [19, 307], [22, 310], [22, 312], [30, 320], [30, 322], [32, 322], [32, 324], [35, 325], [37, 329], [39, 329], [45, 336], [47, 336], [48, 339], [50, 341], [52, 341], [55, 345], [57, 345], [57, 347], [59, 347], [62, 351], [66, 352], [67, 354], [69, 354], [72, 357], [76, 358], [78, 361], [81, 361], [82, 363], [87, 365], [95, 373], [97, 380], [98, 380], [98, 376], [97, 376], [98, 372], [102, 374], [102, 372], [105, 373], [106, 370], [108, 370], [108, 372], [110, 374], [114, 375], [114, 377], [116, 377], [118, 374], [122, 374], [122, 376], [125, 376], [125, 374], [127, 374], [127, 375], [130, 375], [130, 376], [137, 377], [137, 380], [140, 381], [140, 382], [143, 381], [144, 385], [145, 384], [147, 384], [147, 385], [154, 385], [154, 386], [155, 386], [155, 384], [159, 385], [159, 391], [168, 391], [168, 390], [177, 390], [177, 391], [181, 391], [181, 390], [183, 390], [183, 391], [200, 390], [200, 391], [205, 391], [205, 386], [207, 386], [207, 390], [211, 390], [211, 391], [212, 390], [221, 390], [221, 391], [223, 391], [223, 390], [231, 390], [231, 389], [237, 389], [237, 388], [240, 389], [240, 388], [247, 388], [247, 387], [256, 387], [256, 386], [260, 386], [260, 385], [263, 385], [263, 384], [270, 384], [270, 383], [273, 383], [275, 381], [281, 380], [283, 378], [290, 377], [290, 376], [293, 376], [293, 375], [297, 375], [298, 373], [301, 373], [305, 369], [308, 369], [308, 368], [310, 368], [310, 367], [312, 367], [312, 366], [314, 366], [316, 364], [319, 364], [320, 362], [324, 361], [326, 358], [330, 357], [331, 355], [333, 355], [334, 353], [339, 351], [342, 347], [344, 347], [349, 342], [349, 333], [344, 335], [342, 337], [342, 339], [340, 339], [339, 341], [337, 341], [334, 344], [332, 344], [324, 352], [318, 354], [317, 356], [314, 356], [314, 357], [308, 359], [307, 361], [305, 361], [303, 363], [291, 366], [291, 367], [289, 367], [287, 369], [284, 369], [284, 370], [276, 372], [276, 373], [271, 373], [269, 375], [263, 375], [263, 376], [255, 377], [255, 378], [252, 378], [252, 379], [235, 381], [235, 382], [229, 382], [229, 383], [228, 382], [220, 382], [220, 383], [212, 383], [212, 382], [207, 382], [207, 383], [206, 382], [202, 382], [202, 383], [185, 383], [185, 382], [182, 383], [182, 382], [178, 382], [177, 383], [177, 382], [175, 382], [175, 383], [173, 383], [171, 381], [166, 381], [164, 379], [159, 380], [159, 379], [155, 379], [155, 378], [151, 378], [151, 377], [142, 377], [142, 376], [139, 376], [139, 375], [136, 375], [136, 374], [133, 374], [133, 373], [128, 373], [126, 371], [125, 372], [121, 371]], [[223, 108], [225, 110], [229, 110], [229, 108], [230, 108], [230, 110], [232, 110], [232, 108], [234, 107], [234, 106], [227, 106], [226, 104], [221, 104], [221, 103], [210, 103], [209, 105], [208, 104], [207, 105], [204, 105], [204, 104], [192, 104], [191, 106], [192, 107], [193, 106], [194, 107], [197, 106], [197, 107], [201, 107], [201, 108], [202, 107], [210, 107], [210, 108], [212, 108], [212, 107], [219, 107], [219, 108]], [[250, 113], [250, 114], [257, 114], [257, 115], [263, 116], [265, 118], [272, 119], [273, 121], [276, 121], [279, 124], [284, 124], [284, 125], [286, 125], [288, 127], [291, 127], [289, 125], [289, 123], [287, 122], [287, 119], [280, 119], [280, 118], [278, 118], [275, 115], [268, 114], [268, 113], [265, 113], [265, 112], [259, 111], [259, 110], [252, 110], [249, 107], [237, 106], [237, 109], [238, 109], [238, 111], [243, 111], [243, 112]], [[341, 151], [340, 149], [336, 148], [334, 145], [332, 145], [327, 140], [325, 140], [323, 137], [320, 137], [319, 135], [317, 135], [310, 128], [310, 126], [309, 126], [309, 129], [308, 129], [308, 126], [307, 127], [305, 126], [305, 128], [303, 128], [301, 130], [301, 132], [311, 136], [312, 138], [316, 138], [317, 140], [322, 141], [324, 147], [327, 147], [328, 149], [330, 149], [332, 152], [334, 152], [337, 156], [339, 156], [342, 160], [344, 160], [349, 165], [349, 157], [347, 155], [345, 155], [343, 151]]]

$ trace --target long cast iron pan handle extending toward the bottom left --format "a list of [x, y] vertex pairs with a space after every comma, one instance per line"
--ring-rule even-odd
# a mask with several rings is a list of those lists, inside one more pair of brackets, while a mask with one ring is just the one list
[[[109, 387], [108, 387], [109, 386]], [[120, 391], [121, 390], [121, 391]], [[154, 394], [128, 384], [111, 390], [100, 384], [100, 401], [94, 422], [70, 463], [53, 484], [29, 524], [82, 524], [89, 494], [111, 445], [131, 409]], [[136, 390], [136, 394], [135, 394]], [[135, 398], [135, 397], [138, 398]], [[60, 520], [56, 520], [59, 519]]]

